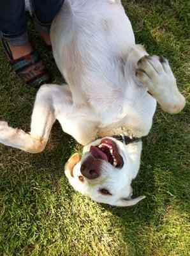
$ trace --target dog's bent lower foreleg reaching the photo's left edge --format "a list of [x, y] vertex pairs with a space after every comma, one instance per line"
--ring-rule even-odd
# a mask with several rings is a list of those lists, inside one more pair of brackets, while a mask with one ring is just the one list
[[26, 152], [41, 152], [47, 143], [55, 122], [54, 107], [50, 88], [42, 87], [36, 96], [31, 120], [31, 132], [15, 129], [6, 122], [0, 122], [0, 143], [19, 148]]

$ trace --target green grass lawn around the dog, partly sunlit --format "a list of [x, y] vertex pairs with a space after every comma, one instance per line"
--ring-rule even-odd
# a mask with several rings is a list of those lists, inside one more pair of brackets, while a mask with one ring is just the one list
[[[187, 98], [188, 2], [123, 1], [136, 42], [170, 60]], [[62, 83], [31, 20], [29, 35], [54, 83]], [[0, 119], [28, 131], [36, 90], [20, 83], [0, 51]], [[0, 255], [189, 255], [188, 121], [188, 103], [174, 116], [157, 108], [133, 184], [135, 195], [147, 198], [128, 208], [96, 204], [73, 191], [63, 166], [82, 148], [57, 123], [41, 154], [0, 145]]]

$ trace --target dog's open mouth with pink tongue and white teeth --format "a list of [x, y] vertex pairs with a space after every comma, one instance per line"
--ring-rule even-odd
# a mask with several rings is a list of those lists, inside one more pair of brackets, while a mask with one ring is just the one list
[[122, 168], [124, 164], [122, 156], [118, 153], [116, 143], [110, 139], [101, 140], [101, 143], [96, 147], [91, 146], [90, 152], [94, 158], [105, 160], [114, 167]]

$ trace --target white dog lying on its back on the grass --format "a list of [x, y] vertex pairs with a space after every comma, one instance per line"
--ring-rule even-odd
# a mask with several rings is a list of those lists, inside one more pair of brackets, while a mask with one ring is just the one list
[[36, 96], [31, 132], [0, 122], [0, 142], [41, 152], [55, 120], [84, 145], [65, 172], [73, 188], [97, 202], [134, 205], [131, 181], [156, 100], [178, 113], [185, 100], [168, 61], [149, 56], [135, 37], [120, 0], [65, 0], [51, 28], [57, 67], [68, 85], [46, 84]]

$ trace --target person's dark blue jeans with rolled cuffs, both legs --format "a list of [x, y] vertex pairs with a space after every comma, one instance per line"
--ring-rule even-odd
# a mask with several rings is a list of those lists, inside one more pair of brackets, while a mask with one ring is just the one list
[[[55, 15], [64, 0], [30, 0], [36, 28], [49, 33]], [[24, 0], [0, 0], [0, 36], [12, 45], [24, 45], [29, 39]]]

